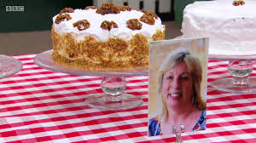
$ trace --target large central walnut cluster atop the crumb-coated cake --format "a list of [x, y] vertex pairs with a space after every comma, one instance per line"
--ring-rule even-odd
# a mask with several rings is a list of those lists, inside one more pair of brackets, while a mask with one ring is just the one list
[[103, 3], [102, 7], [96, 10], [97, 14], [119, 14], [120, 9], [113, 3]]

